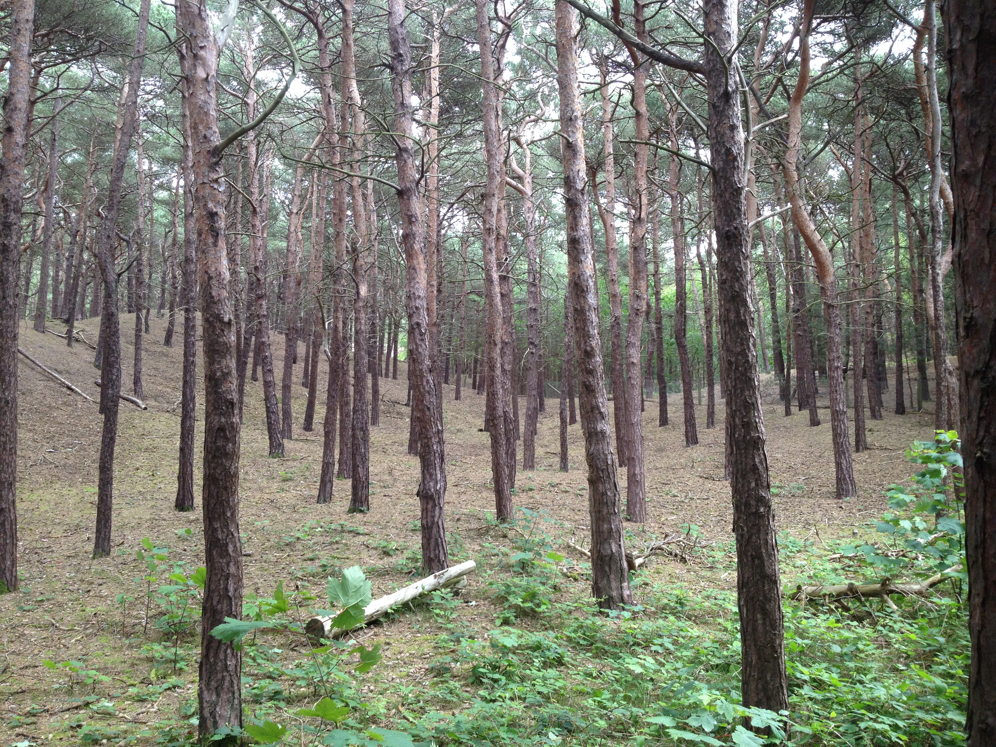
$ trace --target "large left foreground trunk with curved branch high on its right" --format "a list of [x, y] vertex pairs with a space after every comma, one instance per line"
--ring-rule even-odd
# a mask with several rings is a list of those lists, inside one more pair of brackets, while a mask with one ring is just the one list
[[[218, 133], [217, 75], [221, 48], [207, 0], [176, 6], [181, 68], [186, 78], [193, 135], [196, 241], [204, 338], [204, 565], [199, 739], [215, 740], [222, 727], [242, 727], [241, 652], [211, 630], [242, 617], [242, 542], [239, 538], [239, 417], [235, 375], [235, 319], [225, 246], [225, 178]], [[237, 744], [226, 736], [219, 747]]]

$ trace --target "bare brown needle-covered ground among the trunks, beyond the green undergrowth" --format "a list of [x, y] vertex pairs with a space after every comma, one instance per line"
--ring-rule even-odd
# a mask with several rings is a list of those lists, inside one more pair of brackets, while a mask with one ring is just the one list
[[[170, 558], [188, 560], [191, 569], [202, 562], [199, 494], [198, 512], [181, 514], [172, 508], [182, 323], [177, 324], [174, 347], [166, 349], [161, 346], [164, 320], [152, 316], [152, 334], [143, 346], [148, 410], [140, 411], [122, 402], [114, 550], [109, 559], [91, 560], [102, 425], [97, 404], [61, 388], [21, 360], [18, 514], [23, 589], [0, 597], [0, 738], [4, 744], [40, 734], [46, 737], [46, 724], [64, 709], [66, 695], [54, 689], [61, 675], [43, 667], [42, 659], [61, 661], [89, 656], [91, 662], [101, 659], [101, 670], [113, 672], [115, 679], [122, 682], [147, 677], [151, 660], [141, 650], [142, 639], [133, 636], [136, 629], [140, 632], [143, 611], [135, 603], [123, 614], [116, 601], [121, 593], [139, 600], [143, 595], [136, 580], [144, 569], [134, 554], [143, 537], [156, 546], [170, 548]], [[123, 317], [122, 321], [124, 390], [130, 391], [133, 317]], [[98, 322], [87, 320], [78, 329], [96, 341]], [[64, 331], [62, 325], [55, 325], [55, 329]], [[283, 338], [275, 335], [273, 342], [279, 385]], [[98, 398], [94, 384], [98, 372], [92, 367], [90, 348], [77, 344], [67, 350], [64, 340], [39, 335], [27, 324], [21, 328], [21, 347], [95, 400]], [[300, 424], [307, 392], [300, 385], [301, 366], [294, 369], [294, 439], [287, 443], [283, 459], [267, 457], [262, 383], [247, 383], [241, 461], [241, 532], [247, 553], [247, 592], [268, 595], [280, 580], [324, 583], [329, 568], [354, 564], [362, 565], [372, 577], [374, 597], [407, 581], [402, 561], [407, 552], [419, 547], [415, 498], [418, 460], [409, 456], [405, 448], [408, 408], [403, 406], [406, 382], [403, 365], [400, 368], [398, 380], [381, 379], [381, 420], [372, 429], [371, 437], [369, 515], [347, 514], [350, 483], [346, 480], [337, 481], [331, 504], [320, 506], [315, 502], [325, 405], [320, 393], [317, 428], [312, 433], [303, 432]], [[324, 362], [321, 370], [319, 391], [324, 392]], [[911, 466], [903, 449], [916, 438], [930, 437], [932, 415], [924, 412], [896, 416], [886, 406], [883, 420], [870, 421], [870, 449], [855, 455], [860, 495], [841, 502], [834, 497], [829, 411], [821, 410], [824, 424], [817, 428], [809, 427], [806, 413], [785, 417], [770, 377], [766, 382], [765, 424], [772, 482], [779, 490], [775, 496], [779, 529], [797, 536], [813, 535], [817, 530], [821, 539], [850, 536], [854, 527], [872, 521], [883, 510], [882, 489], [909, 475]], [[494, 498], [489, 485], [488, 435], [480, 431], [484, 398], [473, 393], [469, 384], [463, 391], [460, 402], [453, 401], [452, 384], [444, 391], [446, 523], [451, 554], [461, 560], [475, 557], [485, 542], [508, 542], [502, 536], [507, 537], [507, 533], [496, 533], [486, 526], [486, 514], [493, 513]], [[821, 405], [826, 406], [825, 384], [822, 393]], [[630, 547], [638, 548], [687, 523], [700, 527], [706, 541], [732, 539], [729, 484], [718, 479], [723, 460], [722, 402], [717, 407], [716, 427], [708, 430], [704, 427], [704, 407], [697, 408], [700, 443], [686, 448], [679, 397], [671, 394], [671, 422], [663, 428], [656, 425], [656, 401], [646, 402], [643, 433], [649, 519], [642, 526], [626, 525]], [[886, 393], [886, 403], [892, 397], [891, 392]], [[524, 399], [522, 404], [524, 409]], [[549, 520], [544, 522], [544, 531], [562, 543], [572, 533], [575, 542], [584, 541], [588, 498], [581, 428], [570, 428], [571, 471], [560, 472], [557, 401], [550, 399], [547, 405], [539, 424], [538, 467], [532, 472], [520, 467], [515, 505], [543, 512]], [[198, 413], [201, 412], [202, 402], [198, 402]], [[198, 454], [201, 435], [198, 424]], [[198, 458], [198, 481], [199, 470]], [[624, 470], [620, 476], [624, 481]], [[621, 488], [624, 496], [624, 484]], [[314, 531], [316, 525], [309, 522], [319, 522], [325, 531]], [[184, 534], [187, 529], [191, 531], [189, 535]], [[296, 533], [301, 536], [295, 538]], [[323, 560], [325, 566], [321, 565]], [[680, 578], [693, 584], [697, 573], [694, 567], [663, 559], [651, 562], [645, 571], [651, 581]], [[700, 581], [703, 592], [716, 584], [734, 583], [733, 578]], [[480, 578], [471, 581], [467, 595], [476, 595], [482, 604], [462, 609], [461, 615], [479, 616], [482, 624], [490, 625], [494, 609], [487, 604], [482, 585]], [[417, 619], [411, 618], [391, 622], [390, 637], [410, 639], [423, 634], [424, 626], [419, 631]], [[122, 635], [123, 625], [131, 637]], [[386, 639], [387, 634], [382, 632], [386, 628], [373, 628], [374, 637]], [[391, 656], [387, 658], [384, 676], [389, 676], [390, 671]], [[188, 676], [195, 677], [195, 671]], [[165, 709], [168, 700], [166, 697], [159, 707]], [[169, 707], [175, 704], [174, 699]], [[34, 717], [29, 719], [34, 725], [18, 725], [26, 716]], [[142, 718], [135, 716], [134, 720], [140, 723]]]

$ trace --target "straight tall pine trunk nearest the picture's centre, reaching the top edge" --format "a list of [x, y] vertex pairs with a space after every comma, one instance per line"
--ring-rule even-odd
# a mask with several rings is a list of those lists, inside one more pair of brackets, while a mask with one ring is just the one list
[[[484, 256], [484, 289], [488, 312], [487, 409], [491, 433], [491, 471], [495, 489], [495, 510], [499, 521], [512, 520], [512, 486], [514, 461], [508, 454], [515, 448], [515, 423], [512, 413], [511, 376], [504, 374], [504, 304], [499, 278], [499, 179], [502, 178], [502, 143], [499, 124], [499, 100], [495, 86], [495, 64], [491, 43], [491, 24], [485, 0], [476, 0], [477, 40], [481, 50], [481, 80], [484, 90], [484, 159], [487, 181], [484, 191], [484, 219], [481, 243]], [[410, 272], [410, 270], [409, 270]], [[409, 323], [410, 325], [410, 323]], [[511, 373], [511, 372], [509, 372]]]

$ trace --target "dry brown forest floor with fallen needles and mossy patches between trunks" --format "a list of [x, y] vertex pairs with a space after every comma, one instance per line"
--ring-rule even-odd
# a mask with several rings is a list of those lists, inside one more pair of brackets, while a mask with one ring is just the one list
[[[164, 608], [154, 590], [169, 583], [169, 571], [155, 581], [143, 580], [149, 572], [136, 558], [143, 538], [148, 538], [157, 553], [166, 556], [160, 564], [163, 568], [192, 573], [202, 563], [199, 490], [195, 491], [196, 512], [173, 510], [181, 323], [174, 347], [166, 349], [161, 346], [164, 320], [152, 316], [152, 332], [143, 347], [148, 409], [141, 411], [124, 401], [121, 405], [111, 558], [91, 560], [102, 425], [97, 403], [60, 387], [27, 361], [20, 361], [22, 589], [0, 597], [0, 744], [99, 742], [102, 738], [151, 743], [157, 737], [148, 729], [142, 736], [142, 725], [167, 717], [182, 721], [190, 713], [189, 703], [196, 703], [198, 636], [191, 629], [182, 640], [174, 641], [156, 628]], [[125, 392], [131, 390], [132, 320], [123, 317]], [[96, 342], [98, 323], [86, 320], [78, 329]], [[64, 332], [62, 325], [53, 326]], [[279, 386], [283, 338], [274, 335], [273, 344]], [[86, 345], [68, 350], [63, 339], [39, 335], [22, 325], [21, 347], [95, 400], [99, 398], [94, 353]], [[397, 380], [380, 380], [380, 425], [371, 430], [371, 512], [367, 515], [347, 514], [348, 480], [337, 481], [332, 503], [315, 503], [322, 458], [324, 362], [320, 368], [317, 428], [311, 433], [300, 427], [306, 389], [300, 385], [301, 366], [294, 368], [294, 438], [287, 442], [282, 459], [267, 457], [262, 382], [247, 381], [240, 477], [247, 594], [267, 597], [279, 582], [287, 590], [322, 590], [327, 576], [359, 565], [372, 580], [376, 598], [410, 583], [418, 569], [418, 460], [405, 448], [408, 408], [403, 405], [403, 365]], [[886, 406], [883, 420], [870, 420], [870, 449], [855, 455], [860, 495], [839, 501], [834, 497], [829, 410], [821, 409], [824, 424], [811, 428], [805, 412], [784, 416], [770, 376], [766, 385], [768, 458], [778, 489], [774, 502], [783, 541], [795, 538], [828, 547], [869, 532], [885, 509], [882, 491], [913, 471], [904, 449], [915, 439], [932, 437], [932, 414], [896, 416]], [[822, 385], [820, 403], [826, 407], [826, 384]], [[367, 675], [364, 692], [373, 693], [395, 682], [416, 689], [427, 686], [432, 661], [438, 655], [432, 641], [447, 624], [457, 620], [486, 629], [496, 619], [500, 621], [503, 606], [493, 591], [500, 568], [482, 560], [514, 551], [524, 532], [539, 532], [552, 550], [574, 562], [584, 560], [568, 544], [586, 545], [588, 538], [587, 470], [580, 424], [569, 431], [571, 471], [560, 472], [558, 403], [547, 400], [539, 423], [537, 469], [525, 472], [520, 466], [518, 470], [515, 505], [523, 520], [517, 531], [510, 532], [493, 522], [490, 447], [488, 435], [480, 429], [484, 398], [467, 384], [463, 400], [456, 402], [453, 390], [452, 384], [447, 385], [443, 395], [449, 549], [454, 561], [478, 560], [480, 571], [470, 578], [461, 604], [451, 607], [444, 620], [421, 607], [413, 608], [358, 635], [369, 643], [384, 644], [383, 661]], [[892, 396], [887, 392], [886, 402]], [[625, 525], [626, 544], [637, 553], [648, 543], [675, 533], [696, 536], [696, 542], [706, 548], [728, 548], [732, 541], [729, 484], [721, 480], [722, 401], [715, 428], [704, 428], [704, 405], [696, 408], [700, 442], [692, 448], [684, 446], [680, 403], [680, 394], [672, 393], [670, 424], [659, 428], [657, 402], [646, 402], [643, 433], [649, 518], [644, 525]], [[202, 407], [198, 401], [195, 485], [199, 485]], [[624, 496], [624, 469], [620, 478]], [[643, 590], [674, 584], [680, 584], [692, 602], [709, 599], [734, 590], [736, 581], [735, 572], [715, 563], [682, 563], [662, 554], [652, 556], [638, 576], [637, 603]], [[584, 599], [590, 589], [586, 578], [581, 572], [563, 574], [559, 598]], [[794, 586], [803, 578], [808, 578], [806, 568], [794, 571], [783, 559], [783, 583]], [[521, 618], [520, 623], [530, 624]], [[182, 648], [186, 653], [171, 654], [174, 643], [176, 651]], [[285, 647], [288, 656], [305, 655], [301, 640], [287, 642]], [[53, 669], [44, 661], [79, 662], [79, 666]], [[284, 693], [285, 699], [293, 701], [294, 687], [283, 687], [291, 691]], [[312, 689], [301, 692], [299, 705], [307, 705]], [[247, 696], [247, 703], [251, 702]], [[396, 711], [388, 706], [381, 710], [396, 717], [401, 706]], [[450, 706], [449, 710], [455, 715], [456, 709]], [[383, 722], [391, 723], [386, 715]], [[87, 724], [99, 728], [88, 731]]]

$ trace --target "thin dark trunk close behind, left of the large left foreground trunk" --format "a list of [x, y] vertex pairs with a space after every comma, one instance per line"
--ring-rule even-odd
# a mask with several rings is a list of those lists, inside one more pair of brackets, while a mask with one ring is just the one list
[[183, 104], [183, 380], [180, 389], [180, 448], [176, 472], [177, 511], [193, 511], [194, 419], [197, 406], [197, 228], [193, 213], [193, 153], [186, 84], [180, 84]]

